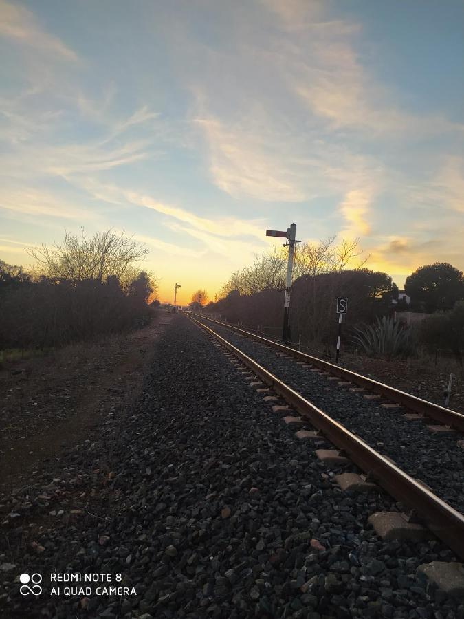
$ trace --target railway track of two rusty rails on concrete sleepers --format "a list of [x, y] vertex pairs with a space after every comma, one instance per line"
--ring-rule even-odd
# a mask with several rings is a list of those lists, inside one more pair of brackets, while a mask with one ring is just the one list
[[[349, 387], [349, 384], [368, 385], [369, 389], [372, 391], [377, 391], [379, 395], [381, 393], [382, 396], [388, 397], [389, 400], [393, 400], [393, 402], [397, 402], [401, 404], [401, 406], [408, 406], [408, 409], [412, 411], [418, 412], [420, 410], [421, 415], [424, 415], [426, 411], [428, 417], [432, 417], [441, 422], [445, 420], [448, 426], [459, 428], [459, 430], [464, 429], [464, 415], [460, 415], [460, 413], [456, 413], [455, 411], [443, 409], [441, 406], [431, 404], [425, 400], [420, 400], [420, 398], [415, 398], [415, 396], [398, 391], [397, 389], [365, 378], [349, 370], [300, 353], [289, 347], [272, 342], [272, 340], [265, 340], [265, 338], [250, 334], [249, 332], [244, 332], [243, 329], [237, 329], [236, 327], [230, 327], [230, 325], [219, 323], [219, 321], [211, 321], [208, 319], [208, 322], [214, 325], [213, 329], [211, 326], [205, 324], [203, 320], [200, 321], [191, 315], [189, 317], [190, 320], [204, 329], [210, 337], [217, 340], [217, 343], [238, 358], [241, 365], [250, 369], [267, 388], [283, 398], [283, 400], [291, 406], [291, 409], [297, 411], [301, 415], [303, 420], [307, 420], [307, 422], [311, 424], [313, 430], [306, 431], [306, 435], [304, 433], [305, 431], [303, 431], [303, 433], [300, 431], [300, 437], [311, 437], [313, 439], [324, 437], [327, 439], [340, 450], [337, 454], [338, 457], [340, 457], [340, 455], [346, 455], [346, 457], [351, 459], [353, 463], [368, 475], [368, 480], [375, 481], [390, 495], [395, 497], [397, 501], [401, 501], [404, 506], [409, 508], [410, 515], [412, 514], [410, 523], [414, 523], [415, 521], [423, 522], [437, 537], [447, 543], [456, 554], [464, 558], [464, 516], [461, 510], [454, 508], [447, 501], [441, 499], [436, 492], [424, 483], [424, 480], [415, 479], [412, 475], [408, 475], [401, 464], [392, 461], [392, 459], [384, 453], [382, 454], [375, 450], [371, 444], [360, 437], [360, 432], [355, 433], [354, 431], [350, 431], [344, 424], [335, 420], [333, 415], [328, 414], [327, 411], [316, 406], [313, 401], [309, 400], [309, 398], [305, 397], [304, 394], [296, 389], [295, 384], [292, 387], [288, 382], [285, 382], [283, 378], [276, 376], [276, 373], [273, 373], [269, 367], [264, 367], [263, 362], [256, 359], [256, 350], [251, 350], [252, 346], [250, 342], [247, 342], [247, 338], [254, 340], [254, 342], [259, 345], [265, 344], [267, 347], [272, 347], [274, 351], [278, 351], [279, 353], [285, 353], [291, 360], [297, 359], [300, 362], [311, 363], [311, 365], [320, 369], [330, 369], [333, 376], [342, 378], [341, 384], [343, 387]], [[221, 330], [222, 334], [220, 333]], [[226, 337], [224, 331], [230, 333], [230, 336]], [[239, 338], [241, 338], [240, 342], [237, 341]], [[260, 354], [261, 358], [265, 357], [263, 351], [261, 351]], [[287, 365], [290, 363], [287, 359], [285, 359], [284, 362], [286, 362]], [[300, 370], [306, 371], [308, 374], [307, 367], [300, 368]], [[314, 377], [314, 373], [311, 376]], [[347, 378], [350, 378], [350, 380], [347, 381]], [[349, 382], [349, 384], [347, 384], [347, 382]], [[254, 386], [259, 387], [258, 384]], [[340, 388], [340, 382], [337, 387], [338, 389]], [[324, 389], [329, 390], [330, 388], [325, 387]], [[333, 389], [334, 387], [332, 390]], [[338, 393], [340, 393], [340, 391], [338, 391]], [[351, 397], [354, 398], [356, 395], [359, 397], [358, 393], [359, 391], [355, 391]], [[268, 400], [269, 398], [272, 399], [272, 396], [267, 396]], [[390, 413], [387, 411], [388, 409], [385, 409], [385, 415], [388, 416]], [[291, 411], [289, 410], [287, 414], [290, 415]], [[316, 432], [314, 432], [314, 430], [316, 430]], [[443, 439], [444, 437], [441, 437], [439, 442], [441, 443]], [[436, 438], [434, 440], [437, 442]], [[448, 440], [455, 442], [455, 437], [450, 439], [448, 435]], [[462, 453], [459, 447], [456, 447], [456, 449], [458, 450], [456, 453]], [[437, 464], [439, 463], [434, 463], [433, 466], [436, 468]]]

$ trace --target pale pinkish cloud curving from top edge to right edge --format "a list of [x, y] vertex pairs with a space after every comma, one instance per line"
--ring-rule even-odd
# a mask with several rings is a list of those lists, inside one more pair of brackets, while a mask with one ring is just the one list
[[327, 120], [330, 129], [368, 132], [388, 140], [405, 131], [420, 137], [464, 130], [464, 124], [441, 114], [419, 116], [397, 105], [397, 93], [366, 69], [356, 52], [361, 23], [327, 19], [328, 3], [262, 1], [280, 17], [285, 32], [298, 34], [296, 41], [289, 42], [287, 36], [279, 43], [287, 85], [313, 115]]

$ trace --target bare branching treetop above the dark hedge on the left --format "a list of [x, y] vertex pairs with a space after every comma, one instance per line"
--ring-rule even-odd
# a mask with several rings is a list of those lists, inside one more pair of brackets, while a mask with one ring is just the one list
[[124, 281], [133, 281], [140, 272], [135, 263], [144, 259], [148, 249], [111, 228], [93, 237], [87, 237], [82, 228], [80, 235], [66, 232], [63, 243], [28, 248], [27, 252], [36, 261], [36, 272], [51, 279], [103, 282], [117, 277], [124, 286]]

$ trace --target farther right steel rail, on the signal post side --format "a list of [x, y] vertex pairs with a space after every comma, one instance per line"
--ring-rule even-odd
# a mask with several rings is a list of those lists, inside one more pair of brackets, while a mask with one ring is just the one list
[[258, 336], [250, 331], [246, 331], [245, 329], [233, 327], [232, 325], [222, 323], [221, 321], [215, 321], [213, 318], [207, 318], [206, 316], [201, 316], [201, 318], [205, 318], [207, 321], [221, 325], [221, 327], [232, 329], [232, 331], [236, 331], [237, 333], [247, 336], [252, 340], [256, 340], [261, 344], [276, 348], [277, 350], [280, 350], [287, 355], [291, 355], [300, 361], [305, 361], [307, 363], [311, 363], [312, 365], [316, 365], [321, 369], [329, 371], [334, 376], [353, 382], [360, 387], [365, 387], [370, 391], [383, 395], [385, 398], [388, 398], [388, 400], [397, 402], [397, 404], [402, 404], [411, 411], [415, 411], [415, 413], [419, 413], [425, 417], [430, 417], [431, 419], [445, 424], [445, 426], [450, 426], [452, 428], [456, 428], [456, 430], [459, 430], [460, 432], [464, 432], [464, 415], [462, 413], [452, 411], [451, 409], [446, 409], [444, 406], [434, 404], [433, 402], [428, 402], [427, 400], [422, 400], [422, 398], [418, 398], [417, 395], [406, 393], [406, 391], [400, 391], [395, 387], [390, 387], [388, 384], [384, 384], [383, 382], [379, 382], [373, 378], [368, 378], [367, 376], [362, 376], [362, 374], [345, 369], [344, 367], [340, 367], [329, 361], [324, 361], [318, 357], [313, 357], [306, 353], [302, 353], [301, 351], [285, 346], [284, 344], [274, 342], [274, 340], [268, 340], [267, 338]]

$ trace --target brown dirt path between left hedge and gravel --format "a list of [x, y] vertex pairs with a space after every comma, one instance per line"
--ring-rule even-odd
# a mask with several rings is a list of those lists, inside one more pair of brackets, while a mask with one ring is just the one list
[[0, 371], [0, 514], [2, 495], [33, 483], [69, 446], [92, 442], [139, 391], [153, 342], [170, 325], [151, 325], [97, 344], [66, 347]]

